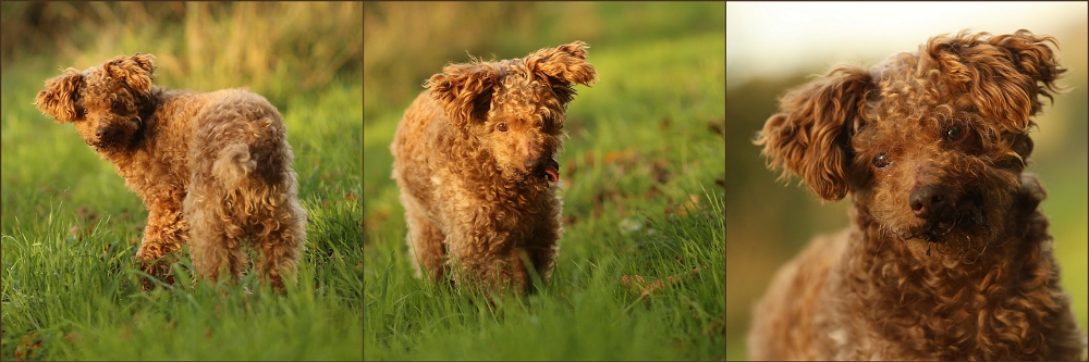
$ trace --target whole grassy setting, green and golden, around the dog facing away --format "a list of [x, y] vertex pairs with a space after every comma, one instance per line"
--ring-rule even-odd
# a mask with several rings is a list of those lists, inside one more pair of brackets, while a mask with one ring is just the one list
[[[38, 5], [5, 3], [5, 32], [13, 26], [7, 22], [22, 16], [13, 14]], [[86, 46], [75, 51], [78, 57], [70, 57], [74, 48], [59, 47], [65, 50], [22, 51], [5, 60], [0, 82], [0, 360], [363, 359], [362, 7], [40, 7], [40, 12], [23, 15], [41, 18], [23, 22], [48, 23], [50, 16], [72, 14], [70, 8], [93, 8], [74, 13], [117, 16], [130, 27], [96, 29], [105, 36], [89, 39], [93, 46], [77, 43]], [[301, 24], [298, 15], [320, 18], [321, 24]], [[274, 32], [267, 18], [278, 20]], [[71, 23], [77, 29], [100, 24], [93, 18]], [[297, 42], [320, 36], [327, 27], [344, 34], [323, 39], [355, 43], [355, 52], [328, 40]], [[183, 36], [194, 29], [224, 40], [195, 45]], [[118, 43], [110, 42], [114, 33]], [[79, 36], [57, 38], [78, 41]], [[233, 39], [261, 39], [273, 49]], [[238, 47], [232, 49], [244, 53], [227, 54], [218, 46]], [[337, 54], [325, 57], [329, 54], [309, 46], [335, 49]], [[54, 123], [33, 104], [42, 82], [59, 74], [58, 65], [82, 68], [136, 51], [158, 57], [157, 84], [193, 90], [248, 86], [280, 110], [295, 152], [299, 198], [309, 212], [296, 287], [280, 295], [253, 275], [234, 286], [191, 287], [192, 262], [182, 258], [174, 267], [174, 286], [140, 291], [131, 258], [147, 211], [72, 125]], [[277, 54], [276, 62], [269, 60], [271, 54]]]

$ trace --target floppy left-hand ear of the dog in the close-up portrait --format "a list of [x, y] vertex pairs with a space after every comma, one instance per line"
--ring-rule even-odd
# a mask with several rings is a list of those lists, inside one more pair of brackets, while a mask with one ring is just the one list
[[780, 178], [802, 176], [821, 199], [843, 199], [854, 157], [851, 136], [861, 126], [869, 87], [868, 72], [841, 65], [783, 96], [781, 112], [768, 118], [754, 141], [764, 146], [768, 168], [782, 166]]

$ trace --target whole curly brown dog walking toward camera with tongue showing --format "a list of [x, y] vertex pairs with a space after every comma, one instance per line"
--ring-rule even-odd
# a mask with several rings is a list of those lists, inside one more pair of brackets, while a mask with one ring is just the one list
[[597, 77], [586, 48], [450, 64], [405, 111], [390, 150], [418, 276], [522, 291], [527, 266], [549, 279], [566, 107]]

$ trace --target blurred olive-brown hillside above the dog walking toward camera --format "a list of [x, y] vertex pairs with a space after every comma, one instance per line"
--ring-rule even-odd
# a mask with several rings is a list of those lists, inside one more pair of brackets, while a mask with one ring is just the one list
[[721, 34], [724, 22], [723, 4], [707, 2], [366, 2], [363, 8], [365, 123], [389, 109], [403, 110], [424, 79], [442, 64], [468, 59], [466, 53], [510, 59], [573, 40], [588, 42], [592, 53], [595, 45]]

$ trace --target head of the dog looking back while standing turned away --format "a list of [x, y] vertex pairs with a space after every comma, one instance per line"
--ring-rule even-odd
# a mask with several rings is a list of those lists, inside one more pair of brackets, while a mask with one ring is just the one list
[[155, 57], [118, 57], [86, 71], [68, 68], [46, 80], [35, 105], [58, 123], [74, 123], [84, 142], [103, 155], [132, 146], [151, 91]]

